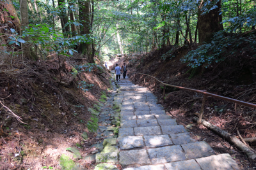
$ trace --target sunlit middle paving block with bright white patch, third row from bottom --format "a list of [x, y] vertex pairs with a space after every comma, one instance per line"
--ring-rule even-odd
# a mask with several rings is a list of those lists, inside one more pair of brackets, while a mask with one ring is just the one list
[[159, 146], [173, 145], [168, 135], [143, 136], [147, 147], [154, 148]]

